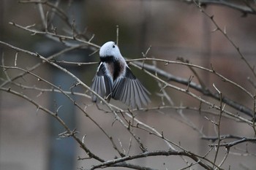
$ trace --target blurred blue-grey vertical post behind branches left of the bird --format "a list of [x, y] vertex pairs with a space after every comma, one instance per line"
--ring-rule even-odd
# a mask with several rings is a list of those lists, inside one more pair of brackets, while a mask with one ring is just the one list
[[[67, 1], [68, 2], [68, 1]], [[64, 3], [64, 2], [60, 2]], [[66, 4], [65, 4], [66, 5]], [[72, 1], [72, 5], [69, 7], [69, 22], [75, 20], [76, 28], [81, 26], [84, 23], [82, 21], [82, 16], [84, 15], [83, 12], [83, 1]], [[59, 19], [58, 19], [59, 20]], [[53, 22], [57, 20], [53, 19]], [[58, 22], [59, 23], [59, 22]], [[61, 26], [57, 25], [59, 29]], [[59, 45], [59, 44], [58, 44]], [[55, 47], [51, 47], [51, 50], [56, 50]], [[86, 58], [86, 51], [85, 50], [75, 50], [70, 53], [66, 53], [61, 55], [61, 60], [64, 61], [74, 61], [74, 62], [82, 62], [83, 58]], [[75, 75], [79, 75], [77, 66], [66, 66], [63, 65], [64, 68], [68, 69]], [[79, 68], [80, 69], [80, 68]], [[51, 71], [53, 74], [53, 83], [54, 85], [60, 85], [62, 90], [70, 90], [72, 85], [74, 85], [74, 80], [69, 75], [61, 72], [59, 69], [53, 69]], [[74, 96], [72, 96], [74, 98]], [[53, 102], [53, 100], [55, 102]], [[65, 97], [61, 93], [52, 93], [50, 96], [50, 101], [52, 102], [52, 109], [56, 110], [59, 108], [58, 115], [61, 119], [67, 123], [68, 127], [73, 130], [76, 128], [75, 122], [75, 106], [74, 104], [69, 101], [67, 97]], [[76, 160], [76, 147], [77, 144], [75, 143], [74, 139], [72, 138], [64, 138], [58, 139], [59, 134], [64, 132], [64, 128], [53, 118], [50, 118], [50, 142], [49, 142], [49, 157], [48, 157], [48, 169], [49, 170], [72, 170], [76, 169], [75, 167], [75, 160]]]

